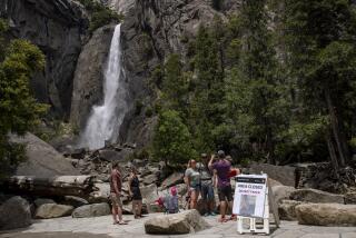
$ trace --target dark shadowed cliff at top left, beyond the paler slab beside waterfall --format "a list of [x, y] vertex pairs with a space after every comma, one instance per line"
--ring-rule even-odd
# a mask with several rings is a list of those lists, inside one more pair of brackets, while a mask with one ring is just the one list
[[9, 21], [10, 39], [27, 39], [44, 52], [46, 69], [32, 79], [31, 87], [41, 102], [52, 106], [52, 112], [67, 118], [89, 23], [85, 10], [71, 0], [2, 0], [0, 17]]

